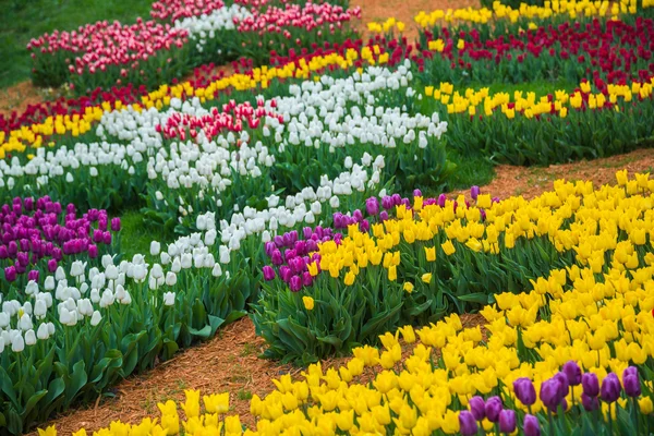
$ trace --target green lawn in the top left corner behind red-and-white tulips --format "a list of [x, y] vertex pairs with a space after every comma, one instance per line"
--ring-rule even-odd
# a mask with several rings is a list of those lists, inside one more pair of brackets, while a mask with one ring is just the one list
[[29, 78], [29, 39], [100, 20], [131, 24], [138, 16], [149, 19], [150, 4], [152, 0], [0, 0], [0, 87]]

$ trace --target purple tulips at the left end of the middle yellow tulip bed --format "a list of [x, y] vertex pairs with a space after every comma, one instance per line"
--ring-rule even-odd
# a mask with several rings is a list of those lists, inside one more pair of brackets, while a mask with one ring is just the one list
[[[318, 271], [320, 270], [318, 243], [335, 241], [338, 244], [342, 239], [341, 233], [335, 233], [332, 229], [320, 226], [315, 229], [305, 227], [302, 230], [302, 237], [303, 239], [300, 239], [298, 231], [293, 230], [275, 237], [265, 245], [266, 255], [278, 268], [279, 277], [293, 292], [313, 284], [315, 277], [308, 272], [308, 264], [316, 262]], [[262, 271], [266, 281], [274, 280], [276, 277], [275, 268], [270, 265], [264, 266]]]

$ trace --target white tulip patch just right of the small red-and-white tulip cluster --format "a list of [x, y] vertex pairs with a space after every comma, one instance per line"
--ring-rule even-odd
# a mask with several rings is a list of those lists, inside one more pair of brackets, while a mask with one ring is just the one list
[[407, 96], [413, 95], [414, 90], [408, 87], [412, 78], [407, 60], [392, 72], [371, 66], [363, 74], [355, 72], [346, 78], [324, 75], [319, 82], [291, 85], [291, 96], [276, 99], [275, 110], [283, 116], [284, 122], [268, 117], [264, 135], [274, 133], [276, 143], [282, 147], [319, 148], [327, 144], [330, 152], [355, 143], [395, 148], [398, 142], [410, 144], [416, 137], [420, 148], [425, 148], [427, 137], [440, 138], [447, 131], [447, 122], [440, 121], [438, 113], [410, 116], [405, 108], [379, 105], [384, 99], [379, 94], [385, 92], [400, 93], [405, 88]]

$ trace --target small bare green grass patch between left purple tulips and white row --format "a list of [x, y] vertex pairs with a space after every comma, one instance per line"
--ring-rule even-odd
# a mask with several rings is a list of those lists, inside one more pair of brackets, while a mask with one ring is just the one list
[[171, 239], [159, 228], [147, 226], [138, 210], [125, 210], [118, 216], [121, 219], [120, 249], [124, 259], [131, 259], [137, 253], [149, 253], [152, 241], [161, 242], [164, 249], [164, 242]]

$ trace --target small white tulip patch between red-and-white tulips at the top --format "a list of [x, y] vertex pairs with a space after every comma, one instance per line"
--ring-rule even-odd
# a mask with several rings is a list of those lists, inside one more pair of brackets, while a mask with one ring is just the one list
[[202, 14], [178, 20], [174, 22], [174, 27], [189, 32], [190, 38], [195, 41], [195, 47], [202, 52], [208, 39], [222, 36], [220, 31], [237, 31], [234, 19], [241, 22], [251, 16], [252, 13], [246, 8], [234, 3], [214, 10], [208, 15]]

